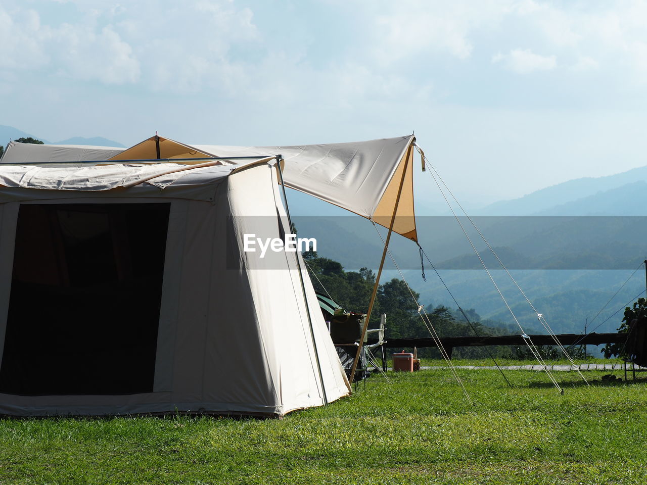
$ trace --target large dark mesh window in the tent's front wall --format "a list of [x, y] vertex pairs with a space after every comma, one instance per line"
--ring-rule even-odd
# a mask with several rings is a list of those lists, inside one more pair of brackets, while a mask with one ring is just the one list
[[23, 204], [0, 392], [153, 391], [170, 204]]

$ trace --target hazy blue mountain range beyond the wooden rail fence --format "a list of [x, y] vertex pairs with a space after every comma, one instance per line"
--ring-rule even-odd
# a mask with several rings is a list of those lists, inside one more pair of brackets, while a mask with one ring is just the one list
[[[613, 332], [622, 310], [644, 293], [642, 261], [647, 256], [647, 166], [606, 177], [582, 177], [543, 188], [519, 199], [501, 200], [470, 213], [479, 231], [510, 270], [532, 305], [556, 332]], [[309, 237], [321, 234], [320, 254], [342, 259], [347, 268], [375, 267], [381, 241], [370, 224], [331, 217], [321, 224], [300, 222]], [[504, 303], [454, 217], [417, 217], [419, 242], [443, 281], [426, 262], [421, 278], [418, 250], [403, 238], [391, 239], [404, 277], [427, 307], [474, 308], [484, 321], [520, 331], [544, 332], [536, 313], [466, 217], [459, 217], [505, 297]], [[310, 222], [310, 223], [309, 223]], [[340, 235], [343, 242], [334, 235]], [[343, 246], [343, 250], [338, 250]], [[353, 248], [350, 250], [349, 248]], [[353, 262], [361, 264], [353, 264]], [[383, 279], [400, 277], [393, 264]], [[506, 305], [507, 303], [507, 305]]]

